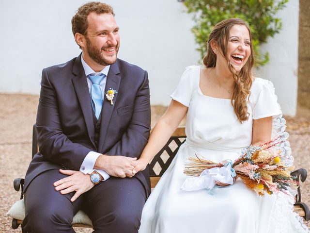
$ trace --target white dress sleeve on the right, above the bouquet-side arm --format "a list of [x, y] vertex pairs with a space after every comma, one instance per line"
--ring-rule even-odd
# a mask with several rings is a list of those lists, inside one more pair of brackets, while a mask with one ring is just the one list
[[253, 108], [253, 119], [260, 119], [268, 116], [278, 116], [282, 114], [278, 104], [278, 97], [275, 94], [273, 83], [269, 80], [260, 79], [260, 92]]

